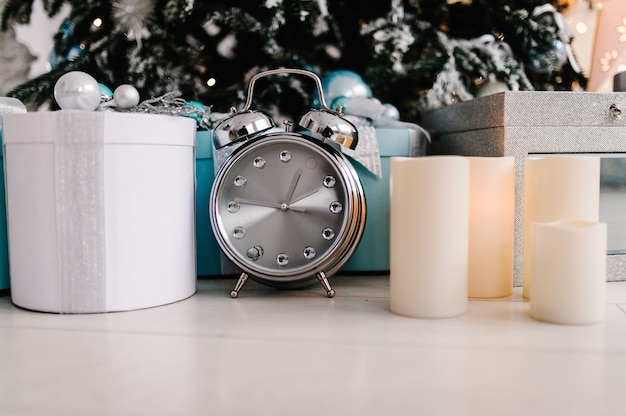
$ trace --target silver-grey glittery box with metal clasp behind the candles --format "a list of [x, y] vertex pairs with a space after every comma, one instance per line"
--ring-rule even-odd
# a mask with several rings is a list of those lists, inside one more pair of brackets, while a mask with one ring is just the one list
[[[603, 170], [617, 170], [612, 177], [626, 186], [619, 183], [624, 159], [616, 158], [626, 157], [626, 93], [507, 91], [424, 112], [420, 124], [432, 135], [429, 154], [515, 157], [515, 286], [522, 283], [527, 156], [599, 154]], [[609, 251], [607, 280], [626, 280], [626, 250]]]

